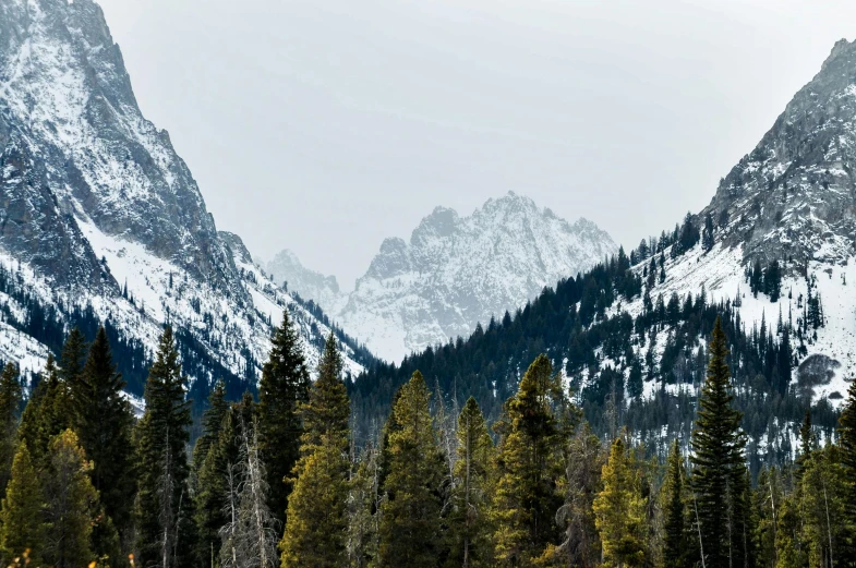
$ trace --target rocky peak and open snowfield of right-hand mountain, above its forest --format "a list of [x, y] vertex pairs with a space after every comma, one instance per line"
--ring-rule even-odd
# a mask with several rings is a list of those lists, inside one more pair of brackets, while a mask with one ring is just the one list
[[[666, 278], [652, 295], [668, 301], [704, 286], [709, 298], [735, 306], [747, 333], [763, 321], [777, 341], [781, 317], [796, 343], [793, 380], [836, 403], [856, 375], [855, 172], [856, 43], [842, 39], [692, 217], [713, 229], [709, 246], [700, 240], [682, 254], [666, 251]], [[775, 291], [753, 293], [757, 268], [759, 282], [773, 268]], [[642, 300], [624, 309], [637, 314]]]

